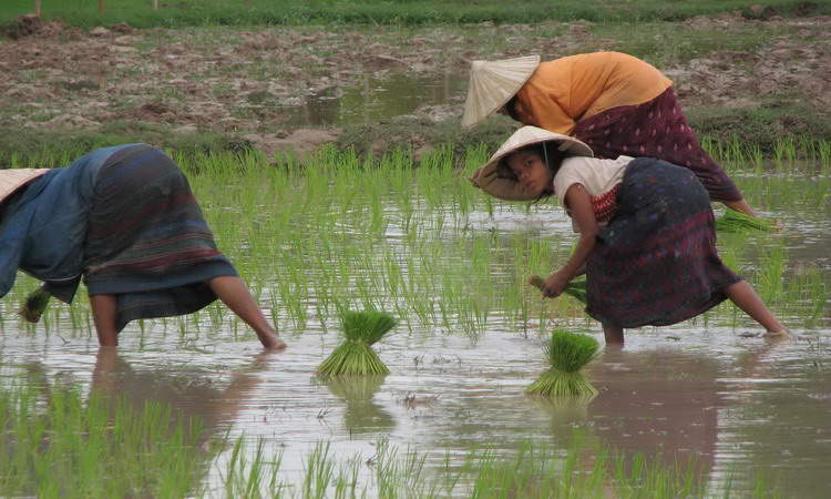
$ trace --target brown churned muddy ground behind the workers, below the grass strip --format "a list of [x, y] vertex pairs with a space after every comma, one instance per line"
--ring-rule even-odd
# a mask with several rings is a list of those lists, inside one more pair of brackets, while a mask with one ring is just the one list
[[[753, 106], [789, 95], [822, 110], [831, 105], [831, 19], [747, 20], [738, 14], [699, 17], [683, 30], [756, 26], [776, 32], [756, 52], [712, 51], [661, 68], [686, 106]], [[287, 110], [324, 91], [337, 94], [375, 75], [466, 74], [474, 59], [615, 50], [585, 22], [554, 26], [543, 37], [527, 26], [393, 29], [275, 28], [135, 30], [127, 24], [82, 32], [60, 21], [21, 18], [0, 41], [0, 128], [94, 130], [126, 120], [161, 123], [173, 133], [223, 132], [264, 149], [311, 149], [338, 130], [297, 130]], [[794, 31], [796, 30], [796, 31]], [[491, 33], [492, 31], [492, 33]], [[491, 35], [505, 39], [497, 51]], [[1, 39], [0, 39], [1, 40]], [[435, 106], [414, 110], [432, 121], [458, 120], [463, 91]]]

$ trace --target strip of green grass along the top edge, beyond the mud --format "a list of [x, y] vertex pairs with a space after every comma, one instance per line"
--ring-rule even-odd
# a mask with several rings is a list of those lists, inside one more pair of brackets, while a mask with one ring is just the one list
[[[305, 24], [305, 23], [361, 23], [361, 24], [444, 24], [478, 22], [540, 22], [545, 20], [571, 21], [677, 21], [698, 14], [715, 14], [740, 10], [749, 17], [777, 13], [827, 14], [831, 7], [818, 2], [810, 6], [796, 0], [758, 2], [751, 0], [701, 0], [695, 3], [639, 0], [604, 2], [601, 0], [564, 0], [552, 3], [543, 0], [505, 3], [496, 0], [476, 2], [439, 0], [368, 0], [332, 1], [309, 0], [178, 0], [160, 1], [153, 10], [151, 0], [104, 0], [104, 11], [98, 0], [43, 0], [47, 17], [58, 17], [84, 28], [99, 24], [130, 22], [136, 27], [183, 26], [249, 26], [249, 24]], [[767, 7], [755, 12], [751, 6]], [[9, 0], [0, 10], [0, 21], [32, 12], [33, 0]]]

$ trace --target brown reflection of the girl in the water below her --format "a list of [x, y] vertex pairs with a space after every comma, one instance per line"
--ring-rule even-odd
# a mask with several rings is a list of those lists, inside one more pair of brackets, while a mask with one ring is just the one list
[[[768, 342], [738, 363], [738, 378], [759, 375], [777, 345]], [[719, 441], [719, 414], [745, 391], [718, 379], [726, 366], [712, 357], [675, 349], [629, 353], [607, 348], [589, 367], [599, 395], [588, 405], [592, 432], [613, 450], [660, 456], [666, 466], [695, 465], [695, 476], [712, 471]], [[740, 398], [739, 398], [740, 399]]]

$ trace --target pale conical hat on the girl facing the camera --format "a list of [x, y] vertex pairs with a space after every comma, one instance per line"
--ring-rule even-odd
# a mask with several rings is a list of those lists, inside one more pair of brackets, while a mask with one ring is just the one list
[[500, 176], [499, 164], [500, 161], [509, 154], [519, 151], [522, 147], [543, 142], [558, 142], [560, 146], [557, 149], [570, 156], [594, 156], [592, 147], [573, 136], [548, 132], [547, 130], [536, 126], [523, 126], [514, 132], [514, 134], [511, 135], [495, 153], [493, 153], [491, 159], [488, 160], [488, 163], [473, 173], [473, 176], [470, 177], [471, 183], [500, 200], [535, 200], [536, 195], [526, 192], [514, 179]]

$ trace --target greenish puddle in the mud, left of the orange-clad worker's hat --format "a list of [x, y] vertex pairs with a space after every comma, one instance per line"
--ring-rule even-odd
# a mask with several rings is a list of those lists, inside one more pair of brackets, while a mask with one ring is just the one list
[[466, 75], [411, 77], [367, 74], [355, 88], [328, 88], [300, 106], [284, 108], [286, 126], [343, 126], [411, 114], [431, 105], [447, 105], [462, 95]]

